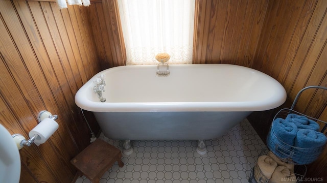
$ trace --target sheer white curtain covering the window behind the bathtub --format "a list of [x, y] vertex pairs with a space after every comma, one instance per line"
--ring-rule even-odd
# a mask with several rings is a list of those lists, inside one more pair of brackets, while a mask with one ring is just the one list
[[118, 0], [126, 65], [192, 64], [195, 0]]

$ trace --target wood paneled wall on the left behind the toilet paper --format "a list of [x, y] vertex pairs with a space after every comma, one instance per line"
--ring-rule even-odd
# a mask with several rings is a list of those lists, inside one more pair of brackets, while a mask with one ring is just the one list
[[[0, 1], [0, 123], [28, 138], [41, 110], [59, 116], [48, 141], [19, 151], [21, 182], [71, 182], [69, 161], [89, 144], [74, 102], [101, 69], [88, 15], [88, 8], [59, 10], [54, 2]], [[98, 132], [94, 117], [89, 122]]]

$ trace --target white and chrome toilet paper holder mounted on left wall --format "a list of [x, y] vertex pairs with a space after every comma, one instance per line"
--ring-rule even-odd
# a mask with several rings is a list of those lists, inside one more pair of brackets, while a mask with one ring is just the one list
[[[42, 110], [41, 112], [39, 112], [39, 114], [37, 116], [38, 124], [41, 123], [41, 121], [44, 120], [45, 118], [50, 118], [50, 119], [56, 120], [56, 119], [58, 119], [58, 115], [52, 115], [51, 112]], [[38, 135], [35, 134], [30, 139], [26, 140], [26, 138], [24, 136], [22, 136], [21, 134], [13, 134], [12, 135], [12, 138], [16, 142], [18, 149], [21, 149], [24, 146], [31, 146], [37, 137], [38, 137]]]

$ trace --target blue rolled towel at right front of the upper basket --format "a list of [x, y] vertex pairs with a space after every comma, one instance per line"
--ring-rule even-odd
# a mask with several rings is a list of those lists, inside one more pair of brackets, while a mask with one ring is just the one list
[[323, 133], [314, 130], [299, 129], [294, 139], [294, 146], [300, 148], [316, 148], [323, 146], [326, 141], [327, 138]]

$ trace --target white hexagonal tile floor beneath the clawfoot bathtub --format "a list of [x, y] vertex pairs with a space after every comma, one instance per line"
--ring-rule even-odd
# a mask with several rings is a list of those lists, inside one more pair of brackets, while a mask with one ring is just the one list
[[[100, 138], [120, 148], [123, 142]], [[208, 153], [196, 153], [196, 140], [133, 141], [134, 153], [123, 156], [124, 167], [115, 163], [100, 182], [248, 182], [263, 141], [247, 120], [225, 135], [205, 141]], [[79, 177], [76, 183], [88, 183]]]

